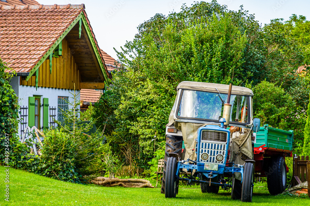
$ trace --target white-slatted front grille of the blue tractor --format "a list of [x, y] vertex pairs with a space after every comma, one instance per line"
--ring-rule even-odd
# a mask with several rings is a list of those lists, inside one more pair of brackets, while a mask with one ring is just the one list
[[[200, 148], [199, 148], [200, 149], [199, 162], [224, 164], [224, 162], [226, 161], [225, 159], [226, 142], [227, 142], [227, 132], [217, 132], [208, 130], [202, 131]], [[207, 153], [209, 155], [209, 158], [207, 160], [202, 160], [201, 159], [202, 153]], [[223, 160], [220, 162], [216, 160], [216, 156], [218, 154], [222, 154], [224, 157]]]

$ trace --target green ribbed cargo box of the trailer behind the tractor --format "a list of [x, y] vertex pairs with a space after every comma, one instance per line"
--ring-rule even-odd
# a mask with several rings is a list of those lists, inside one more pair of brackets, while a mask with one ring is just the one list
[[269, 127], [268, 124], [265, 124], [263, 127], [260, 127], [259, 132], [256, 133], [256, 143], [254, 144], [254, 147], [265, 145], [263, 147], [292, 151], [293, 136], [293, 130], [286, 131], [272, 128]]

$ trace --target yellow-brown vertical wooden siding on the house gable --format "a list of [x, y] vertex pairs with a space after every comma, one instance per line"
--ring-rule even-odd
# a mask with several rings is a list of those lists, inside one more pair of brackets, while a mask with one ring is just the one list
[[[70, 52], [69, 43], [62, 40], [62, 55], [52, 57], [52, 74], [50, 74], [50, 59], [47, 58], [39, 67], [38, 86], [60, 89], [81, 89], [81, 74]], [[21, 79], [21, 78], [20, 78]], [[28, 81], [21, 80], [20, 85], [36, 86], [36, 77], [33, 75]]]

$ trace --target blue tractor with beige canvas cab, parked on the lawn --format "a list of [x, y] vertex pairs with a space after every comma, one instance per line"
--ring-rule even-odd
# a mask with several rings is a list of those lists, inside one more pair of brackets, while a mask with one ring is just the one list
[[252, 118], [252, 97], [253, 92], [244, 87], [179, 84], [166, 126], [162, 179], [166, 198], [174, 198], [179, 181], [186, 181], [200, 183], [203, 193], [231, 189], [232, 199], [252, 201], [252, 139], [260, 126], [260, 120]]

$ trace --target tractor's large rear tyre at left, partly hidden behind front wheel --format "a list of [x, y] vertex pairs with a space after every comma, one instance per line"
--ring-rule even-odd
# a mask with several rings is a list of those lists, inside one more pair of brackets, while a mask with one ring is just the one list
[[166, 137], [165, 160], [164, 160], [164, 168], [162, 172], [162, 188], [160, 190], [162, 194], [165, 194], [166, 164], [167, 164], [167, 159], [169, 158], [169, 153], [177, 153], [179, 157], [181, 157], [182, 142], [183, 142], [183, 137], [180, 137], [180, 136], [167, 135]]

